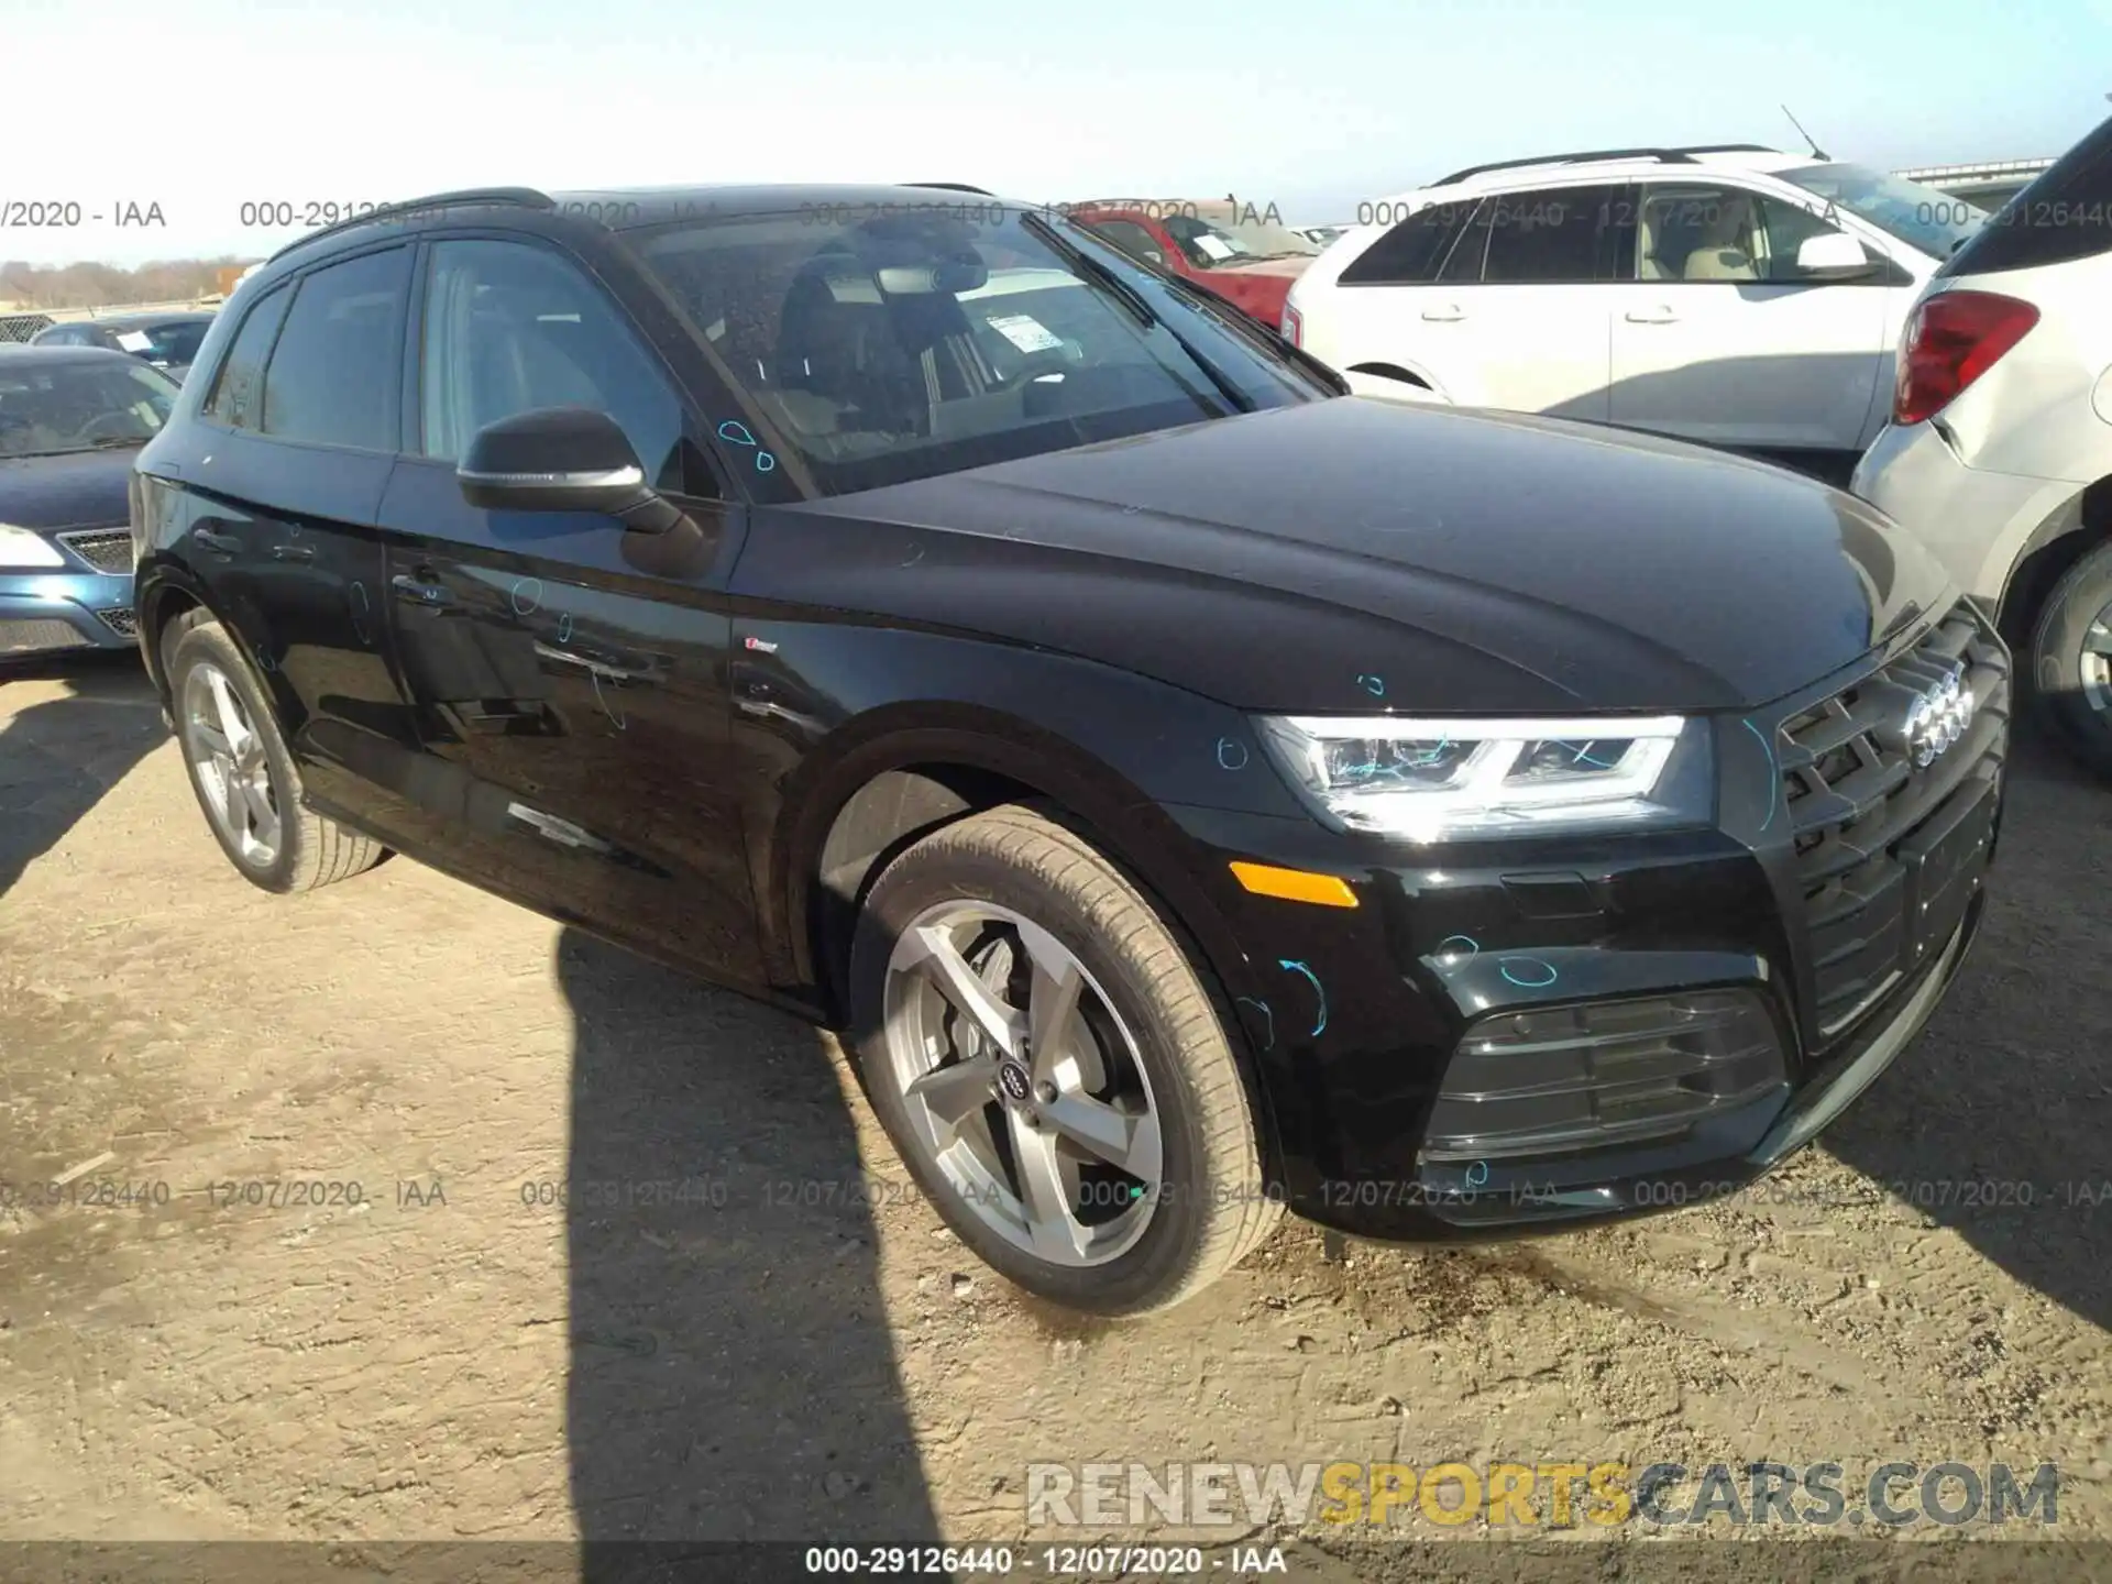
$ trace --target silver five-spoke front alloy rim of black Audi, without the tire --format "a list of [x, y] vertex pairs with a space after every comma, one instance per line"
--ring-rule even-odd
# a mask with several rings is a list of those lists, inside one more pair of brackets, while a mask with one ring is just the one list
[[1159, 1109], [1134, 1035], [1056, 936], [991, 902], [925, 908], [889, 955], [885, 1018], [917, 1145], [969, 1212], [1052, 1265], [1136, 1246]]

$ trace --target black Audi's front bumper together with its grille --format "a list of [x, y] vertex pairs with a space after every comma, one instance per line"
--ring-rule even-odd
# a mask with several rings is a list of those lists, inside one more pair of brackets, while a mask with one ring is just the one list
[[[1935, 767], [1903, 775], [1871, 758], [1854, 771], [1837, 748], [1806, 760], [1814, 739], [1831, 741], [1827, 705], [1926, 663], [1937, 631], [1966, 648], [1983, 693]], [[1398, 845], [1358, 849], [1309, 822], [1178, 811], [1206, 868], [1322, 870], [1358, 898], [1217, 898], [1240, 942], [1219, 972], [1255, 1054], [1276, 1189], [1341, 1231], [1447, 1242], [1679, 1208], [1772, 1170], [1899, 1058], [1958, 974], [2000, 834], [2009, 697], [2006, 650], [1962, 606], [1941, 629], [1717, 720], [1715, 828], [1462, 843], [1404, 864]], [[1347, 849], [1377, 862], [1345, 862]], [[1709, 997], [1764, 1007], [1747, 1033], [1772, 1020], [1778, 1067], [1671, 1124], [1635, 1119], [1630, 1096], [1649, 1086], [1616, 1079], [1609, 1056], [1601, 1067], [1605, 1037], [1546, 1033]], [[1521, 1014], [1525, 1043], [1491, 1056], [1485, 1031]], [[1550, 1052], [1571, 1067], [1557, 1073]], [[1595, 1126], [1614, 1126], [1559, 1143], [1544, 1138], [1563, 1128], [1476, 1138], [1457, 1119], [1502, 1111], [1478, 1102], [1508, 1102], [1487, 1075], [1514, 1058], [1548, 1062], [1521, 1067], [1516, 1094], [1582, 1088]], [[1690, 1081], [1711, 1079], [1677, 1086]]]

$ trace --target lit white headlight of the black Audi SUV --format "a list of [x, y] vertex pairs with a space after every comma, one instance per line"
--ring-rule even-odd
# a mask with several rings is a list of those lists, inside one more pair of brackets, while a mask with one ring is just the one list
[[1704, 824], [1709, 727], [1685, 716], [1265, 716], [1263, 741], [1337, 830], [1409, 841]]

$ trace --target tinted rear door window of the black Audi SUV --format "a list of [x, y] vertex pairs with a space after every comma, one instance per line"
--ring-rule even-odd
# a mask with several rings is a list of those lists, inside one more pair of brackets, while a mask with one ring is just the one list
[[304, 277], [264, 374], [264, 433], [393, 452], [408, 300], [408, 247]]

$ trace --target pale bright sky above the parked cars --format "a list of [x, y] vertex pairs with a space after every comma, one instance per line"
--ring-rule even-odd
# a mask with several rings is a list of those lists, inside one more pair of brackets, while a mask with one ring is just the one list
[[1481, 161], [1802, 150], [1785, 101], [1835, 158], [2032, 158], [2112, 114], [2112, 0], [0, 0], [0, 260], [139, 264], [467, 186], [1231, 192], [1333, 224]]

